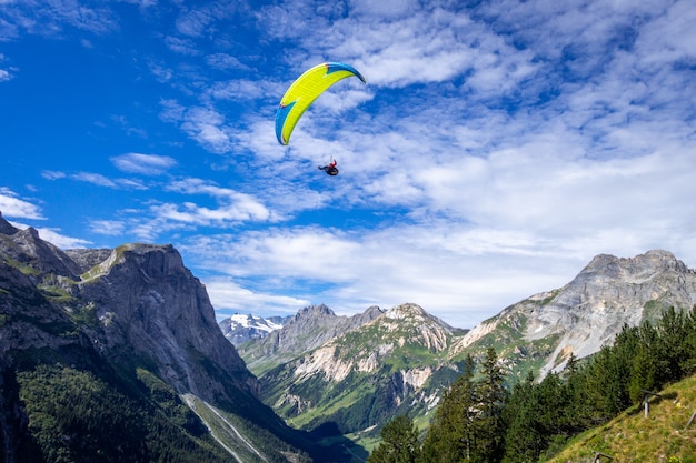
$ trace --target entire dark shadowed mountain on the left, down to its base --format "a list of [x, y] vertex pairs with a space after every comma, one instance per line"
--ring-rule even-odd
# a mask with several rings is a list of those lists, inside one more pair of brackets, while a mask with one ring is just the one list
[[264, 405], [171, 245], [63, 252], [0, 215], [0, 392], [4, 462], [347, 460]]

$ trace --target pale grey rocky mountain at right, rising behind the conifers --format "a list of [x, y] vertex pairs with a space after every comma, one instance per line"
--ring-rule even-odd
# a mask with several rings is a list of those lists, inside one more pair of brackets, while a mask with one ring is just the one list
[[696, 304], [696, 272], [667, 251], [630, 259], [600, 254], [565, 286], [535, 294], [475, 326], [451, 349], [458, 358], [493, 345], [507, 369], [540, 375], [563, 370], [570, 354], [590, 355], [624, 324], [656, 320], [669, 306]]

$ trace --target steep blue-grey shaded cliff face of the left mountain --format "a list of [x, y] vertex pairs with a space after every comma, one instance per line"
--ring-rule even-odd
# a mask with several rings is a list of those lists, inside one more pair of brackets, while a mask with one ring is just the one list
[[105, 350], [125, 345], [150, 358], [177, 392], [210, 401], [223, 394], [220, 381], [200, 362], [207, 359], [238, 387], [258, 393], [256, 378], [218, 328], [205, 286], [173, 246], [120, 246], [79, 293], [96, 308]]

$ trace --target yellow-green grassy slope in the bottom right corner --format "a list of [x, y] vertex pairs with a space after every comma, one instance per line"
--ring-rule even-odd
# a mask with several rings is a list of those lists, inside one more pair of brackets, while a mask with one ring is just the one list
[[[662, 391], [663, 397], [649, 400], [648, 417], [644, 405], [635, 405], [609, 423], [571, 440], [549, 463], [591, 462], [593, 451], [620, 462], [696, 463], [696, 375]], [[601, 461], [608, 461], [603, 459]]]

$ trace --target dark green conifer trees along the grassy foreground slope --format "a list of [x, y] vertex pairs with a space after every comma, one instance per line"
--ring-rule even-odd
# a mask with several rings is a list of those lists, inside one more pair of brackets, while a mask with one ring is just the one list
[[469, 354], [443, 393], [425, 436], [400, 415], [385, 425], [368, 463], [537, 462], [569, 437], [608, 422], [696, 372], [696, 306], [665, 311], [657, 322], [624, 325], [612, 345], [588, 359], [570, 355], [561, 372], [533, 373], [507, 387], [496, 351]]

